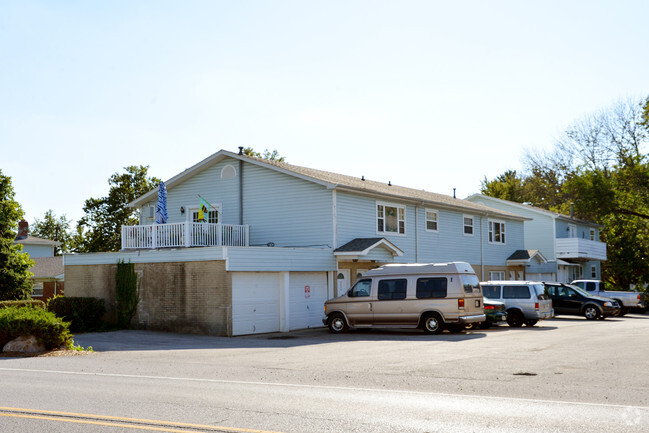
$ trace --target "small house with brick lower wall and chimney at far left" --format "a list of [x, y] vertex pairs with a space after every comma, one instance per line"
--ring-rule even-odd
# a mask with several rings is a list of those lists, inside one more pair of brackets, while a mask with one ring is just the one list
[[23, 252], [36, 264], [30, 268], [34, 275], [32, 298], [47, 301], [62, 295], [64, 290], [63, 256], [55, 256], [54, 250], [61, 245], [60, 242], [49, 239], [37, 238], [29, 235], [29, 224], [22, 220], [18, 224], [18, 235], [14, 244], [21, 244]]

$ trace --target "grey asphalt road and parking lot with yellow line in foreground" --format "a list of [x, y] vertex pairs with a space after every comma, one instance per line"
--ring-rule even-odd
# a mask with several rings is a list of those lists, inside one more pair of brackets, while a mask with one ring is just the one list
[[648, 335], [634, 315], [440, 336], [85, 334], [90, 355], [0, 358], [0, 431], [646, 432]]

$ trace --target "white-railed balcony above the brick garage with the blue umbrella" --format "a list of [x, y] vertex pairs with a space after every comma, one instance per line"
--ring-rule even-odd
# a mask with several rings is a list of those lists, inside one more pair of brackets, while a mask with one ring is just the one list
[[247, 247], [247, 225], [210, 223], [122, 226], [122, 250], [175, 247]]

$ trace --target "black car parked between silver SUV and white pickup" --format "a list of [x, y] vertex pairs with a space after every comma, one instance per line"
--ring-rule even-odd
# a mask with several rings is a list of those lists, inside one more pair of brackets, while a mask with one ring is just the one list
[[584, 316], [588, 320], [617, 316], [620, 305], [613, 299], [593, 296], [577, 286], [564, 283], [543, 283], [552, 299], [554, 314]]

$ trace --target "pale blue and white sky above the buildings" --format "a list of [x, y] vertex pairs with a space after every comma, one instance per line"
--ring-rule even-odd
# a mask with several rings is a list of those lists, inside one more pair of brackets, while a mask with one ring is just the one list
[[649, 2], [0, 0], [0, 169], [33, 223], [220, 149], [459, 198], [649, 96]]

